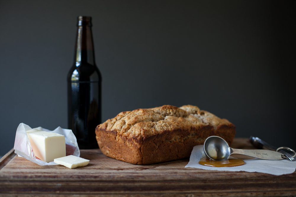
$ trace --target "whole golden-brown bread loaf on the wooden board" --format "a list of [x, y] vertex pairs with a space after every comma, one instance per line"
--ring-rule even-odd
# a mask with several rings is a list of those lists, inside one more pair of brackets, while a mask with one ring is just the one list
[[125, 111], [96, 127], [103, 154], [139, 165], [190, 157], [195, 145], [213, 135], [231, 144], [235, 126], [193, 105]]

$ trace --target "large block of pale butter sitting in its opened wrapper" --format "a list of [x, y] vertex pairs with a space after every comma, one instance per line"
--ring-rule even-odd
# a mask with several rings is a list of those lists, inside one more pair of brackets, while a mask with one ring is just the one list
[[27, 136], [35, 156], [42, 161], [53, 162], [66, 156], [65, 136], [36, 129], [27, 131]]

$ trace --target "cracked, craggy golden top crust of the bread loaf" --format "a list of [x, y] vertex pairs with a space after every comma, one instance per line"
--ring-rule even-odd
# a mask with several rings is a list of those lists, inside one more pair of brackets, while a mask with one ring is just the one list
[[200, 110], [197, 106], [183, 105], [178, 108], [163, 105], [156, 108], [121, 112], [116, 117], [98, 125], [97, 129], [116, 132], [117, 138], [126, 136], [133, 139], [145, 139], [161, 134], [163, 131], [173, 131], [184, 127], [190, 130], [192, 126], [198, 128], [205, 125], [212, 126], [214, 131], [219, 126], [234, 127], [228, 120]]

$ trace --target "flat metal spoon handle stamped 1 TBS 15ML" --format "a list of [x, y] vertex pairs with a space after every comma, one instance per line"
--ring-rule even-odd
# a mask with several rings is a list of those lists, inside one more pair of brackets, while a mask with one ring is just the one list
[[256, 157], [259, 159], [267, 159], [267, 160], [281, 160], [284, 159], [281, 157], [281, 153], [276, 151], [270, 151], [270, 150], [245, 150], [245, 149], [232, 149], [231, 154], [243, 154], [251, 157]]

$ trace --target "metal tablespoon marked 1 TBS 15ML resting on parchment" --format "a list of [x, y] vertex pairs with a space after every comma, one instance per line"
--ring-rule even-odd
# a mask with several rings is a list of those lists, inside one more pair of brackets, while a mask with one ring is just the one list
[[215, 161], [222, 161], [229, 158], [231, 154], [243, 154], [251, 157], [267, 160], [281, 160], [284, 159], [282, 154], [270, 150], [244, 150], [230, 148], [227, 142], [218, 136], [210, 136], [205, 140], [204, 152], [210, 159]]

